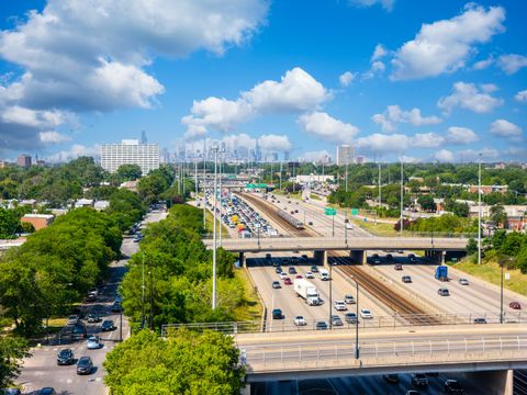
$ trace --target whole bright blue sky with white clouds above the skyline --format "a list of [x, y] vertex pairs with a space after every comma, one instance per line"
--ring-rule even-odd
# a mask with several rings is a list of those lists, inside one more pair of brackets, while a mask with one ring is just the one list
[[146, 131], [170, 151], [258, 140], [317, 159], [344, 143], [370, 160], [525, 161], [526, 11], [523, 1], [3, 1], [0, 157], [75, 158]]

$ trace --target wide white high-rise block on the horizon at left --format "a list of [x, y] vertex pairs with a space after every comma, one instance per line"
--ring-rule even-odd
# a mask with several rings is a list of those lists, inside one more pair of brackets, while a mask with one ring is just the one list
[[159, 146], [141, 144], [138, 139], [101, 145], [101, 167], [115, 172], [121, 165], [138, 165], [143, 176], [146, 176], [150, 170], [159, 168]]

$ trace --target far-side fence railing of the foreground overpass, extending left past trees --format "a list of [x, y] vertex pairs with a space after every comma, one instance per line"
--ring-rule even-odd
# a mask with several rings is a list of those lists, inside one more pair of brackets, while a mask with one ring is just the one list
[[[335, 313], [334, 313], [335, 314]], [[327, 318], [306, 319], [305, 325], [298, 326], [293, 323], [294, 317], [284, 319], [268, 319], [264, 328], [260, 320], [239, 323], [194, 323], [194, 324], [166, 324], [161, 327], [162, 336], [169, 330], [187, 328], [189, 330], [203, 331], [214, 330], [226, 335], [235, 334], [258, 334], [262, 329], [266, 332], [289, 332], [316, 330], [319, 321], [325, 321], [329, 327]], [[346, 323], [344, 315], [340, 316], [341, 325], [333, 325], [332, 330], [354, 329], [355, 323]], [[506, 313], [503, 317], [504, 324], [527, 324], [527, 314], [523, 312]], [[483, 319], [483, 320], [482, 320]], [[433, 325], [482, 325], [500, 324], [500, 313], [439, 313], [439, 314], [395, 314], [391, 316], [378, 316], [371, 319], [359, 317], [359, 328], [396, 328]]]

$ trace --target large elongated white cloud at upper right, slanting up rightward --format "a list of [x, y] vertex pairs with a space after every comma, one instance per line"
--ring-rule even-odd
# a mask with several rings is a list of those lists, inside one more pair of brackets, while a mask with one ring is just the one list
[[476, 44], [504, 31], [504, 20], [502, 7], [485, 9], [469, 3], [458, 16], [423, 24], [415, 38], [396, 50], [391, 78], [419, 79], [464, 67]]

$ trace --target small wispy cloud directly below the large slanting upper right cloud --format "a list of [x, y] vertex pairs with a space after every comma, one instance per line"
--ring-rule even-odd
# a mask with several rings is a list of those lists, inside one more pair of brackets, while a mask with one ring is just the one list
[[437, 105], [447, 114], [457, 106], [475, 113], [487, 113], [503, 104], [503, 99], [490, 94], [490, 90], [495, 90], [494, 88], [493, 84], [484, 84], [478, 88], [474, 83], [456, 82], [453, 93], [439, 99]]

